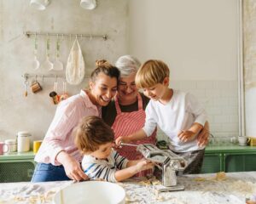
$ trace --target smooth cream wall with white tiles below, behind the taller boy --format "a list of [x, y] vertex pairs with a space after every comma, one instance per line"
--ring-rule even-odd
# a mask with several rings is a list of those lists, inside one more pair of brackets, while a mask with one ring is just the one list
[[129, 51], [162, 59], [171, 86], [206, 106], [212, 132], [238, 134], [237, 0], [130, 0]]

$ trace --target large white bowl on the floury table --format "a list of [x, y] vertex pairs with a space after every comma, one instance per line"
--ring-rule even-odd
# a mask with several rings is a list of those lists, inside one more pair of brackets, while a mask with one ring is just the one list
[[54, 197], [55, 204], [125, 203], [125, 190], [118, 184], [104, 181], [85, 181], [60, 190]]

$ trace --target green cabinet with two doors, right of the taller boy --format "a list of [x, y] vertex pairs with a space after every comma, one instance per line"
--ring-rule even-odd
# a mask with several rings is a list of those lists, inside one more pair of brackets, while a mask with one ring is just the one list
[[256, 171], [256, 147], [207, 146], [201, 173]]

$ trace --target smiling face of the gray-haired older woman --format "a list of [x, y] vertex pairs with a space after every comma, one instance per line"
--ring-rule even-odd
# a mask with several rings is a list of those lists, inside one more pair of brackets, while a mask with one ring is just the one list
[[121, 105], [131, 105], [137, 100], [137, 87], [135, 84], [136, 73], [131, 73], [128, 77], [119, 78], [118, 98]]

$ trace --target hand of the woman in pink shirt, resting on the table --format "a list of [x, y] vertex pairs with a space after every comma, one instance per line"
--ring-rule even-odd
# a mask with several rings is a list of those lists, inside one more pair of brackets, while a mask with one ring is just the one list
[[76, 181], [88, 179], [87, 175], [82, 171], [80, 163], [65, 151], [61, 151], [56, 158], [63, 165], [68, 178]]

